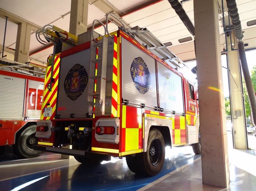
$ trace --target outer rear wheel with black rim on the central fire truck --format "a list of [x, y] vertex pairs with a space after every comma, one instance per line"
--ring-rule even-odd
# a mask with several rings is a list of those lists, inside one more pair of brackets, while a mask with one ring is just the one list
[[[140, 155], [138, 155], [138, 160]], [[143, 164], [140, 165], [140, 173], [154, 176], [160, 173], [165, 158], [164, 137], [160, 130], [152, 129], [148, 135], [147, 152], [141, 155]]]

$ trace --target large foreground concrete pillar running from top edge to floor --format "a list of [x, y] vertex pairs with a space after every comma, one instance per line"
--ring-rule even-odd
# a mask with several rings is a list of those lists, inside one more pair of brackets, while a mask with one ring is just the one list
[[194, 0], [203, 184], [226, 188], [229, 157], [216, 0]]

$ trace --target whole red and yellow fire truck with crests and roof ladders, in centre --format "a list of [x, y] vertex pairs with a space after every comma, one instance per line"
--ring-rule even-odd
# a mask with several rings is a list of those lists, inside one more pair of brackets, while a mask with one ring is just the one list
[[200, 154], [197, 92], [147, 29], [89, 31], [77, 43], [49, 58], [35, 149], [89, 165], [126, 157], [146, 175], [160, 172], [165, 146]]

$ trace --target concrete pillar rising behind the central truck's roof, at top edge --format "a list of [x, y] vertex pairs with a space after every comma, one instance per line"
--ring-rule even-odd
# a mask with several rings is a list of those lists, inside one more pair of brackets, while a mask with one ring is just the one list
[[79, 35], [87, 31], [89, 0], [71, 0], [69, 33]]

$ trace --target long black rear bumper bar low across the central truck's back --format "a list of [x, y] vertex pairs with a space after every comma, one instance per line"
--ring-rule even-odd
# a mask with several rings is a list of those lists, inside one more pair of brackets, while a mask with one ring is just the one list
[[106, 153], [94, 153], [91, 151], [84, 151], [84, 150], [76, 150], [76, 149], [65, 149], [65, 148], [58, 148], [58, 147], [49, 147], [49, 146], [34, 146], [35, 150], [46, 151], [50, 153], [58, 153], [58, 154], [66, 154], [72, 155], [76, 157], [83, 157], [88, 159], [95, 159], [95, 160], [111, 160], [111, 155]]

